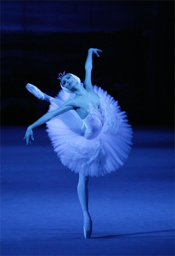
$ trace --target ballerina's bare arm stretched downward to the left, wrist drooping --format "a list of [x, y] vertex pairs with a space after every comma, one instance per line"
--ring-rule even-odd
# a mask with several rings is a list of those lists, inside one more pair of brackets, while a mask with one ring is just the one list
[[30, 142], [30, 136], [31, 136], [31, 139], [33, 139], [33, 132], [32, 132], [32, 129], [39, 126], [39, 125], [42, 125], [43, 123], [46, 123], [48, 122], [49, 120], [51, 120], [52, 118], [54, 118], [55, 116], [58, 116], [60, 114], [63, 114], [67, 111], [70, 111], [70, 110], [73, 110], [74, 109], [74, 100], [68, 100], [67, 102], [65, 102], [59, 109], [55, 110], [55, 111], [52, 111], [52, 112], [49, 112], [49, 113], [46, 113], [45, 115], [43, 115], [42, 117], [40, 117], [36, 122], [32, 123], [31, 125], [29, 125], [27, 131], [26, 131], [26, 134], [25, 134], [25, 137], [24, 139], [26, 139], [26, 142], [27, 142], [27, 145], [31, 142]]

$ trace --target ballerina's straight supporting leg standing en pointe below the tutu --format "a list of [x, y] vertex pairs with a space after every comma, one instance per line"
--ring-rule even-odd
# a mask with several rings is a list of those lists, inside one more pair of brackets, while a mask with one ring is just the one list
[[79, 181], [77, 186], [78, 197], [83, 210], [84, 215], [84, 237], [90, 238], [92, 233], [92, 220], [88, 211], [88, 183], [89, 177], [84, 174], [79, 174]]

